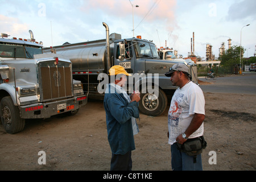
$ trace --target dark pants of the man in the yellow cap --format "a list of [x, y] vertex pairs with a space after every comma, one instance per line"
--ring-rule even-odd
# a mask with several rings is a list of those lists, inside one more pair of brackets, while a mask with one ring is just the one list
[[127, 152], [125, 155], [112, 153], [112, 159], [110, 163], [111, 171], [131, 171], [131, 167], [131, 151]]

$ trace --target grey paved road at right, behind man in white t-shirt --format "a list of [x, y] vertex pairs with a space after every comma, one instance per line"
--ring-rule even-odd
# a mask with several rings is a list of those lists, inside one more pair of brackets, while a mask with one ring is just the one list
[[200, 77], [199, 80], [213, 83], [200, 85], [203, 92], [256, 95], [256, 73], [254, 72], [242, 73], [242, 75], [218, 77], [217, 80], [211, 78], [209, 81]]

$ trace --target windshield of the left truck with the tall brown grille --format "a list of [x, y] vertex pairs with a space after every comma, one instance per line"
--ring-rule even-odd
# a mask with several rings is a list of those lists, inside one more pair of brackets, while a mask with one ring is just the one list
[[0, 57], [10, 58], [33, 58], [34, 55], [42, 53], [41, 47], [23, 44], [1, 44]]

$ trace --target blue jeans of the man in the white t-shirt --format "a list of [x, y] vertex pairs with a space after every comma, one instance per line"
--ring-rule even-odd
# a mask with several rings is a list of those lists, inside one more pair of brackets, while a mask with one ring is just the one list
[[171, 145], [171, 164], [173, 171], [203, 171], [201, 154], [194, 163], [194, 157], [179, 151], [177, 143]]

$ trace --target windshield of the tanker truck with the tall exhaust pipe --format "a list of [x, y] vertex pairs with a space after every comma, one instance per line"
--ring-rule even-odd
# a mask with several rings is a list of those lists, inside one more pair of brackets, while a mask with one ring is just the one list
[[138, 42], [137, 44], [135, 44], [134, 48], [137, 58], [150, 57], [152, 59], [159, 59], [155, 44], [147, 42]]

